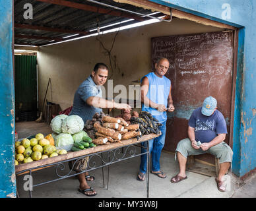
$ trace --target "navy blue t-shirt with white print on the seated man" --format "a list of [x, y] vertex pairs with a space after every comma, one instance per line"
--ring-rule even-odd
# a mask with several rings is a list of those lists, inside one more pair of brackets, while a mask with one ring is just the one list
[[220, 111], [210, 116], [201, 113], [202, 107], [195, 109], [189, 119], [189, 126], [195, 128], [195, 140], [201, 143], [210, 142], [220, 133], [228, 133], [226, 121]]

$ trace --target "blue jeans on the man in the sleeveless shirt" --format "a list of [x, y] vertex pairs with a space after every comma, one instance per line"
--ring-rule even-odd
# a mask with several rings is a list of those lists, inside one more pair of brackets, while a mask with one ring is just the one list
[[[160, 171], [160, 155], [162, 148], [164, 147], [164, 141], [166, 139], [166, 121], [162, 123], [162, 126], [159, 127], [160, 131], [162, 132], [162, 135], [158, 136], [157, 138], [148, 140], [148, 142], [141, 143], [142, 146], [146, 147], [146, 144], [148, 143], [149, 146], [149, 152], [151, 154], [151, 160], [152, 160], [152, 171]], [[146, 152], [146, 149], [141, 148], [141, 153]], [[141, 156], [141, 165], [140, 165], [140, 172], [146, 173], [146, 156], [147, 154], [143, 154]], [[149, 162], [149, 160], [148, 160]]]

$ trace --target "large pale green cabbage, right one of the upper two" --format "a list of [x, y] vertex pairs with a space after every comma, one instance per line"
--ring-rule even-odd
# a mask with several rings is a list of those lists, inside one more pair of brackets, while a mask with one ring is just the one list
[[63, 119], [61, 124], [62, 133], [75, 134], [84, 129], [84, 121], [79, 115], [70, 115]]

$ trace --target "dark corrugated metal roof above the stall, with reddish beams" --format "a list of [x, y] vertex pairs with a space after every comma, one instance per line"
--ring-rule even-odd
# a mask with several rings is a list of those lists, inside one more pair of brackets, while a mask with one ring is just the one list
[[[100, 26], [107, 26], [113, 23], [119, 23], [123, 20], [131, 19], [131, 17], [138, 17], [141, 20], [147, 20], [148, 18], [141, 16], [136, 16], [131, 13], [125, 13], [123, 11], [115, 10], [110, 7], [104, 7], [96, 3], [90, 3], [85, 0], [44, 0], [47, 2], [42, 2], [43, 0], [15, 0], [14, 1], [14, 16], [15, 16], [15, 44], [26, 44], [26, 45], [46, 45], [55, 40], [54, 42], [59, 42], [63, 40], [65, 36], [71, 36], [74, 34], [79, 34], [78, 36], [84, 36], [82, 32], [89, 32], [97, 27], [97, 23]], [[98, 1], [114, 7], [119, 7], [129, 11], [135, 11], [137, 13], [142, 13], [148, 15], [152, 13], [150, 10], [143, 9], [141, 7], [135, 7], [133, 5], [116, 3], [112, 0]], [[24, 9], [24, 5], [30, 3], [33, 8], [33, 18], [32, 20], [26, 20], [24, 18], [24, 13], [28, 9]], [[68, 5], [56, 5], [53, 3], [67, 3]], [[74, 3], [79, 3], [81, 6], [88, 5], [96, 8], [96, 12], [85, 11], [83, 9], [73, 8]], [[102, 9], [106, 14], [102, 13]], [[116, 16], [112, 14], [113, 12], [120, 13], [121, 16]], [[111, 15], [112, 14], [112, 15]], [[127, 16], [125, 16], [127, 15]], [[139, 22], [139, 20], [134, 20], [133, 22]], [[128, 23], [127, 23], [128, 24]], [[66, 38], [64, 40], [68, 40]]]

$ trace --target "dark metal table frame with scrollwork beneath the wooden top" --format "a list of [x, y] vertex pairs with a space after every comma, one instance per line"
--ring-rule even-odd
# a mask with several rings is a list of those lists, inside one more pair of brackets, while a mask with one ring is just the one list
[[[135, 158], [137, 156], [141, 156], [143, 154], [146, 154], [147, 155], [146, 156], [146, 166], [147, 166], [147, 169], [146, 169], [146, 197], [148, 198], [148, 196], [149, 196], [149, 167], [150, 167], [150, 165], [149, 165], [149, 163], [150, 163], [149, 162], [150, 161], [150, 159], [149, 159], [150, 152], [149, 152], [149, 148], [148, 148], [148, 141], [149, 140], [143, 140], [143, 141], [139, 142], [139, 143], [147, 142], [146, 143], [146, 147], [141, 146], [141, 144], [138, 145], [138, 143], [136, 143], [136, 142], [133, 142], [131, 144], [126, 144], [126, 145], [119, 146], [119, 147], [116, 147], [116, 148], [111, 148], [111, 149], [103, 150], [103, 151], [100, 151], [100, 152], [94, 152], [94, 153], [91, 153], [91, 154], [86, 154], [84, 156], [79, 156], [79, 157], [75, 157], [75, 158], [71, 158], [71, 159], [67, 159], [67, 160], [62, 160], [60, 162], [55, 162], [55, 163], [52, 163], [52, 164], [46, 164], [46, 165], [42, 165], [42, 166], [37, 166], [37, 167], [31, 167], [31, 168], [28, 168], [28, 169], [24, 169], [22, 171], [16, 172], [16, 176], [20, 175], [21, 173], [24, 173], [26, 171], [29, 171], [29, 175], [32, 176], [32, 170], [34, 170], [34, 169], [40, 169], [40, 168], [55, 166], [55, 173], [56, 173], [56, 175], [59, 178], [52, 179], [52, 180], [46, 181], [44, 183], [38, 183], [36, 185], [34, 185], [34, 184], [32, 185], [32, 187], [37, 187], [39, 185], [44, 185], [44, 184], [51, 183], [51, 182], [54, 182], [54, 181], [59, 181], [61, 179], [66, 179], [66, 178], [69, 178], [69, 177], [74, 177], [75, 175], [79, 175], [80, 173], [85, 173], [87, 171], [92, 171], [94, 169], [98, 169], [98, 168], [101, 167], [102, 168], [102, 175], [103, 175], [103, 184], [104, 184], [104, 169], [103, 169], [103, 167], [108, 166], [108, 183], [109, 183], [109, 173], [110, 173], [109, 166], [111, 164], [115, 164], [115, 163], [121, 162], [123, 160], [127, 160], [127, 159], [130, 159], [130, 158]], [[146, 152], [144, 152], [144, 153], [140, 152], [139, 154], [136, 154], [136, 146], [139, 146], [140, 148], [146, 149]], [[127, 147], [127, 148], [123, 152], [123, 148], [125, 148], [125, 147]], [[108, 161], [104, 160], [104, 158], [103, 158], [103, 153], [104, 152], [107, 153], [107, 160]], [[73, 167], [74, 167], [75, 163], [78, 160], [83, 159], [85, 157], [89, 157], [89, 159], [88, 159], [88, 161], [86, 161], [87, 162], [87, 166], [86, 166], [86, 169], [84, 171], [81, 170], [79, 173], [72, 173], [73, 172], [73, 168], [72, 168], [65, 175], [60, 175], [59, 174], [59, 172], [58, 172], [59, 170], [60, 171], [64, 171], [64, 169], [65, 169], [65, 164], [64, 163], [69, 162], [71, 160], [76, 160], [74, 162], [74, 164], [73, 164]], [[90, 161], [92, 161], [92, 159], [94, 159], [94, 158], [100, 158], [101, 164], [99, 166], [96, 165], [96, 162], [92, 162], [92, 164], [90, 164]], [[104, 185], [104, 187], [105, 187], [105, 185]], [[107, 189], [108, 189], [108, 186], [107, 186]], [[18, 196], [18, 191], [16, 191], [16, 193], [17, 193], [17, 197], [19, 197]], [[29, 195], [30, 195], [30, 198], [32, 198], [32, 190], [31, 190], [31, 188], [29, 190]]]

